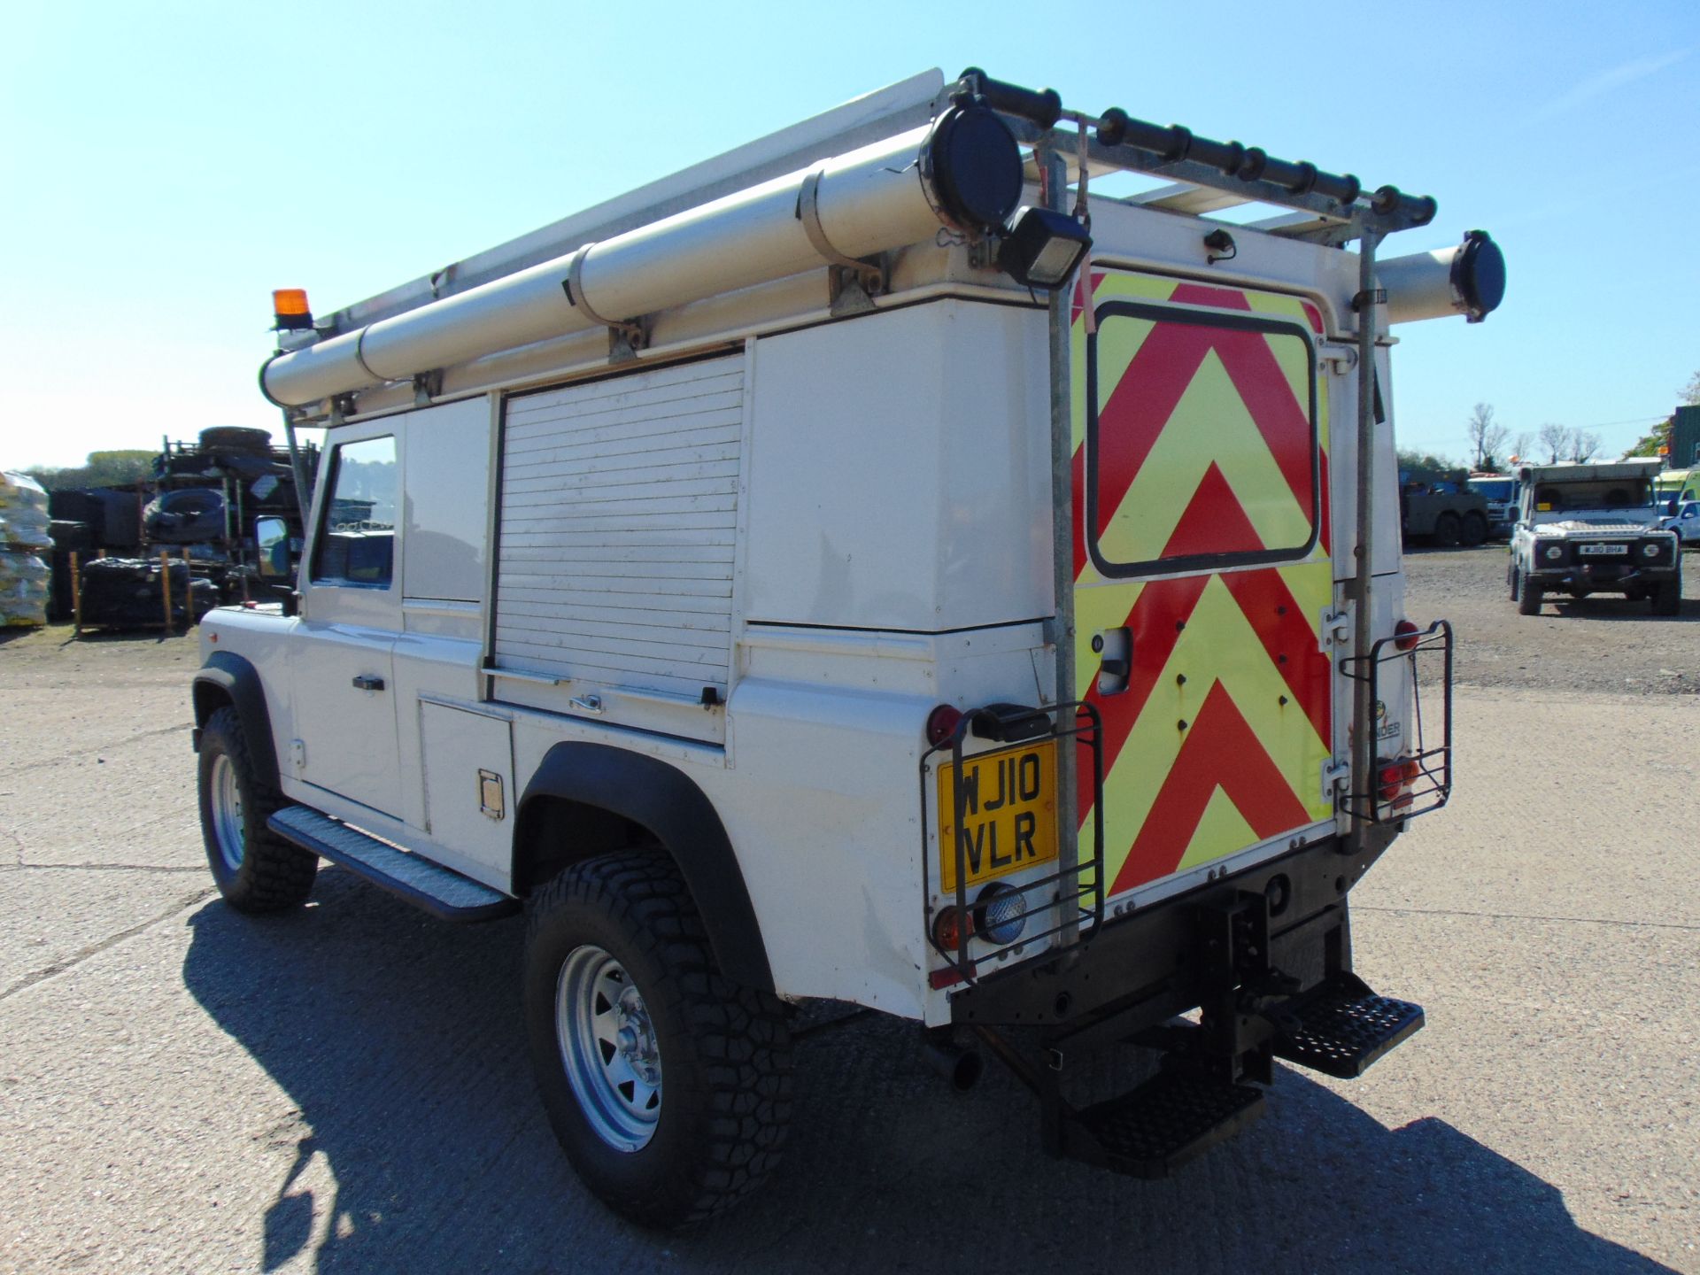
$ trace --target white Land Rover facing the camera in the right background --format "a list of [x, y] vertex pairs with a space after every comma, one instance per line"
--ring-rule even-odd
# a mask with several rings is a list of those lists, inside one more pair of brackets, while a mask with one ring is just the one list
[[1658, 457], [1518, 471], [1523, 493], [1508, 578], [1523, 615], [1535, 615], [1547, 593], [1622, 593], [1651, 600], [1654, 615], [1678, 614], [1681, 547], [1659, 527], [1656, 473]]

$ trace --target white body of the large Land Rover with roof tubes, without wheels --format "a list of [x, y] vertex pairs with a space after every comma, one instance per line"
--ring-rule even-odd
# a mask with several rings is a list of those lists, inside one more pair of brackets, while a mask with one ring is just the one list
[[[1360, 326], [1338, 243], [1433, 206], [1324, 173], [1336, 216], [1222, 252], [1195, 212], [1241, 201], [1095, 197], [1071, 316], [952, 231], [962, 85], [286, 335], [262, 386], [330, 427], [299, 600], [209, 615], [196, 704], [335, 824], [301, 845], [534, 899], [643, 833], [728, 978], [938, 1028], [1168, 1017], [1192, 988], [1154, 1000], [1134, 949], [1244, 898], [1284, 996], [1348, 976], [1345, 891], [1448, 790], [1414, 678], [1450, 631], [1404, 624], [1387, 314]], [[1040, 146], [1020, 202], [1062, 204], [1042, 95], [986, 94]], [[1132, 155], [1115, 128], [1095, 155]], [[1460, 260], [1389, 262], [1389, 313], [1491, 309]], [[1027, 891], [1020, 938], [993, 886]]]

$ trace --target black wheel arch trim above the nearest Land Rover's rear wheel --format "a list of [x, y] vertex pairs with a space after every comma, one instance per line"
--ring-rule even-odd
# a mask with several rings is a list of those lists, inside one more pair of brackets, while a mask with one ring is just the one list
[[513, 876], [524, 879], [539, 808], [549, 799], [617, 814], [660, 838], [702, 913], [709, 947], [726, 978], [774, 991], [762, 926], [726, 824], [685, 772], [654, 756], [598, 743], [554, 745], [525, 784], [513, 824]]

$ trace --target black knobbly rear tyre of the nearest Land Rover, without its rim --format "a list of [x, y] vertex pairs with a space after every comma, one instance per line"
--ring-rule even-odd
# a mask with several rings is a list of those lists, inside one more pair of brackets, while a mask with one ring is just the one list
[[[636, 1151], [580, 1107], [558, 1032], [568, 957], [624, 966], [660, 1049], [660, 1117]], [[726, 979], [672, 858], [627, 850], [563, 870], [527, 904], [524, 1013], [549, 1124], [593, 1195], [639, 1226], [683, 1229], [738, 1204], [774, 1171], [790, 1122], [790, 1032], [780, 1001]]]

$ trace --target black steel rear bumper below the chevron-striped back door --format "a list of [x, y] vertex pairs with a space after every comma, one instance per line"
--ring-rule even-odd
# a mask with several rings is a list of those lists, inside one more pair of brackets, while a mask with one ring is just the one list
[[1080, 1032], [1112, 1022], [1136, 1032], [1185, 1013], [1221, 991], [1221, 955], [1204, 916], [1244, 894], [1270, 910], [1270, 962], [1318, 986], [1350, 969], [1346, 894], [1382, 855], [1402, 824], [1372, 824], [1365, 845], [1343, 853], [1328, 836], [1187, 894], [1107, 920], [1086, 942], [1054, 959], [984, 976], [950, 998], [950, 1020], [964, 1027], [1051, 1027]]

